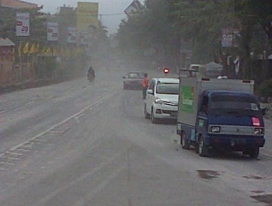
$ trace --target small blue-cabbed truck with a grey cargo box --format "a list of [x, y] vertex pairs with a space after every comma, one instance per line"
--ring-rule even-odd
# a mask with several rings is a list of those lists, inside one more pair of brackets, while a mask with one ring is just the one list
[[253, 96], [254, 81], [180, 76], [178, 142], [209, 156], [211, 148], [257, 158], [264, 146], [264, 122]]

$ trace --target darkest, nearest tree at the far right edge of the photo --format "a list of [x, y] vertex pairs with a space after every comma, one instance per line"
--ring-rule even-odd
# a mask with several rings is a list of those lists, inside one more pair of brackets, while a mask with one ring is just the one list
[[[234, 18], [240, 23], [241, 27], [239, 53], [243, 60], [244, 77], [257, 78], [258, 81], [263, 81], [265, 78], [269, 78], [266, 66], [262, 67], [263, 75], [261, 77], [259, 70], [256, 71], [256, 66], [252, 61], [256, 61], [260, 54], [268, 55], [272, 51], [271, 1], [243, 0], [232, 1], [231, 4], [234, 7]], [[272, 73], [270, 73], [270, 77], [272, 77]]]

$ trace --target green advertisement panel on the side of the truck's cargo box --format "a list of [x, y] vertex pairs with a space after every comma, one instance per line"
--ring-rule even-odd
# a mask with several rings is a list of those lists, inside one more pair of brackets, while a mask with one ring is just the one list
[[181, 98], [181, 111], [186, 113], [193, 113], [193, 97], [194, 87], [183, 86]]

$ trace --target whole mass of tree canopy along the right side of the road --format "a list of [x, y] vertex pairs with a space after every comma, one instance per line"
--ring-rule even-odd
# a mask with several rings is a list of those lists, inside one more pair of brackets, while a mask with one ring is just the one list
[[[121, 50], [134, 58], [175, 66], [180, 66], [183, 50], [190, 50], [194, 63], [227, 65], [229, 56], [239, 56], [240, 75], [252, 77], [252, 59], [264, 50], [271, 53], [271, 21], [269, 0], [147, 0], [141, 11], [122, 21], [118, 40]], [[222, 47], [222, 29], [238, 31], [235, 47]]]

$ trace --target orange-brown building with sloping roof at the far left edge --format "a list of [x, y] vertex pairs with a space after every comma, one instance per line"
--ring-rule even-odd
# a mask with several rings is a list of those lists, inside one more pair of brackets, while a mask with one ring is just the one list
[[14, 46], [9, 38], [0, 38], [0, 87], [13, 82]]

